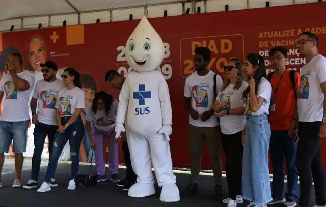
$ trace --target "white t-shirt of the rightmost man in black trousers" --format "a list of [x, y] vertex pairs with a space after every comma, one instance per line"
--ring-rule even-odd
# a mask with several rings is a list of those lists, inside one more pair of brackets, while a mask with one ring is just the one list
[[324, 94], [320, 84], [326, 82], [326, 58], [318, 54], [301, 70], [301, 85], [297, 95], [300, 122], [322, 121]]

